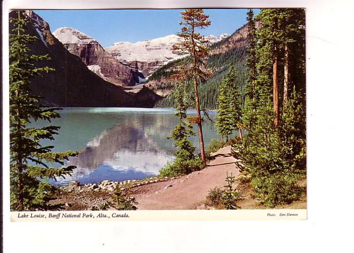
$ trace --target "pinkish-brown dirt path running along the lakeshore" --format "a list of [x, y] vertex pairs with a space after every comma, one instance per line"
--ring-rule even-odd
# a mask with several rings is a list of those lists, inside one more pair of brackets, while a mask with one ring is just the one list
[[141, 187], [135, 193], [139, 210], [195, 209], [202, 207], [211, 188], [223, 187], [226, 173], [239, 175], [231, 147], [214, 153], [216, 158], [204, 170], [149, 187]]

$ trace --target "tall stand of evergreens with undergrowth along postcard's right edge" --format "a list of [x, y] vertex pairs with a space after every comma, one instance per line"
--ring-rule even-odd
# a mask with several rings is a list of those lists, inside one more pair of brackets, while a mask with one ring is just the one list
[[249, 10], [247, 21], [247, 135], [232, 150], [254, 196], [273, 207], [305, 193], [298, 184], [306, 178], [305, 12], [261, 9], [253, 18]]

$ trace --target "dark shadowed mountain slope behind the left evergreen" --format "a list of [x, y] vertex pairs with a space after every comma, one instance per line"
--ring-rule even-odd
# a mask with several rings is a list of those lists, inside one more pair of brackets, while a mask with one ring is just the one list
[[[49, 106], [62, 107], [136, 107], [137, 94], [126, 93], [124, 88], [105, 81], [90, 71], [81, 59], [70, 54], [63, 44], [50, 31], [49, 24], [32, 11], [22, 11], [21, 15], [31, 19], [26, 33], [35, 35], [38, 40], [30, 48], [35, 55], [50, 56], [50, 60], [41, 61], [38, 67], [54, 68], [41, 77], [32, 80], [31, 89], [34, 94], [43, 97], [42, 103]], [[10, 17], [16, 17], [15, 11]], [[12, 29], [10, 23], [10, 32]], [[144, 92], [142, 93], [144, 94]], [[151, 94], [150, 94], [151, 95]], [[155, 94], [154, 100], [159, 97]], [[146, 98], [144, 105], [152, 107], [156, 101]]]

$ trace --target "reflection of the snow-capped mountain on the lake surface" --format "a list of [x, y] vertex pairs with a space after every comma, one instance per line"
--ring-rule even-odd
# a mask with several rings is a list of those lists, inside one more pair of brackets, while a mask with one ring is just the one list
[[[144, 122], [146, 120], [144, 119]], [[149, 117], [149, 121], [151, 122], [147, 125], [150, 125], [150, 129], [153, 128], [154, 123], [158, 122], [153, 116]], [[159, 147], [156, 141], [148, 136], [144, 125], [141, 120], [132, 120], [130, 117], [129, 120], [104, 130], [87, 143], [81, 154], [68, 161], [68, 165], [77, 167], [72, 176], [58, 179], [58, 182], [64, 183], [86, 178], [102, 166], [108, 166], [111, 171], [120, 171], [123, 174], [132, 172], [141, 172], [142, 175], [158, 174], [167, 161], [173, 159], [173, 150]], [[169, 126], [165, 128], [168, 129]], [[164, 138], [167, 136], [165, 133], [162, 135]], [[164, 140], [166, 142], [166, 139]]]

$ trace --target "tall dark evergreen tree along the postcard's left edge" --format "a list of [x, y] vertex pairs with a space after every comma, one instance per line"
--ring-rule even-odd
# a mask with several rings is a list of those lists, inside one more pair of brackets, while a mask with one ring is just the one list
[[53, 140], [58, 126], [31, 128], [31, 120], [48, 120], [60, 117], [56, 110], [39, 103], [40, 97], [30, 95], [31, 79], [53, 69], [36, 67], [34, 62], [49, 59], [48, 55], [32, 55], [28, 44], [35, 36], [25, 33], [30, 21], [20, 11], [17, 18], [11, 18], [10, 34], [10, 187], [11, 210], [46, 210], [53, 208], [48, 201], [55, 187], [46, 179], [64, 177], [74, 166], [56, 169], [48, 163], [63, 164], [63, 159], [76, 152], [51, 152], [53, 146], [41, 146], [40, 140]]

